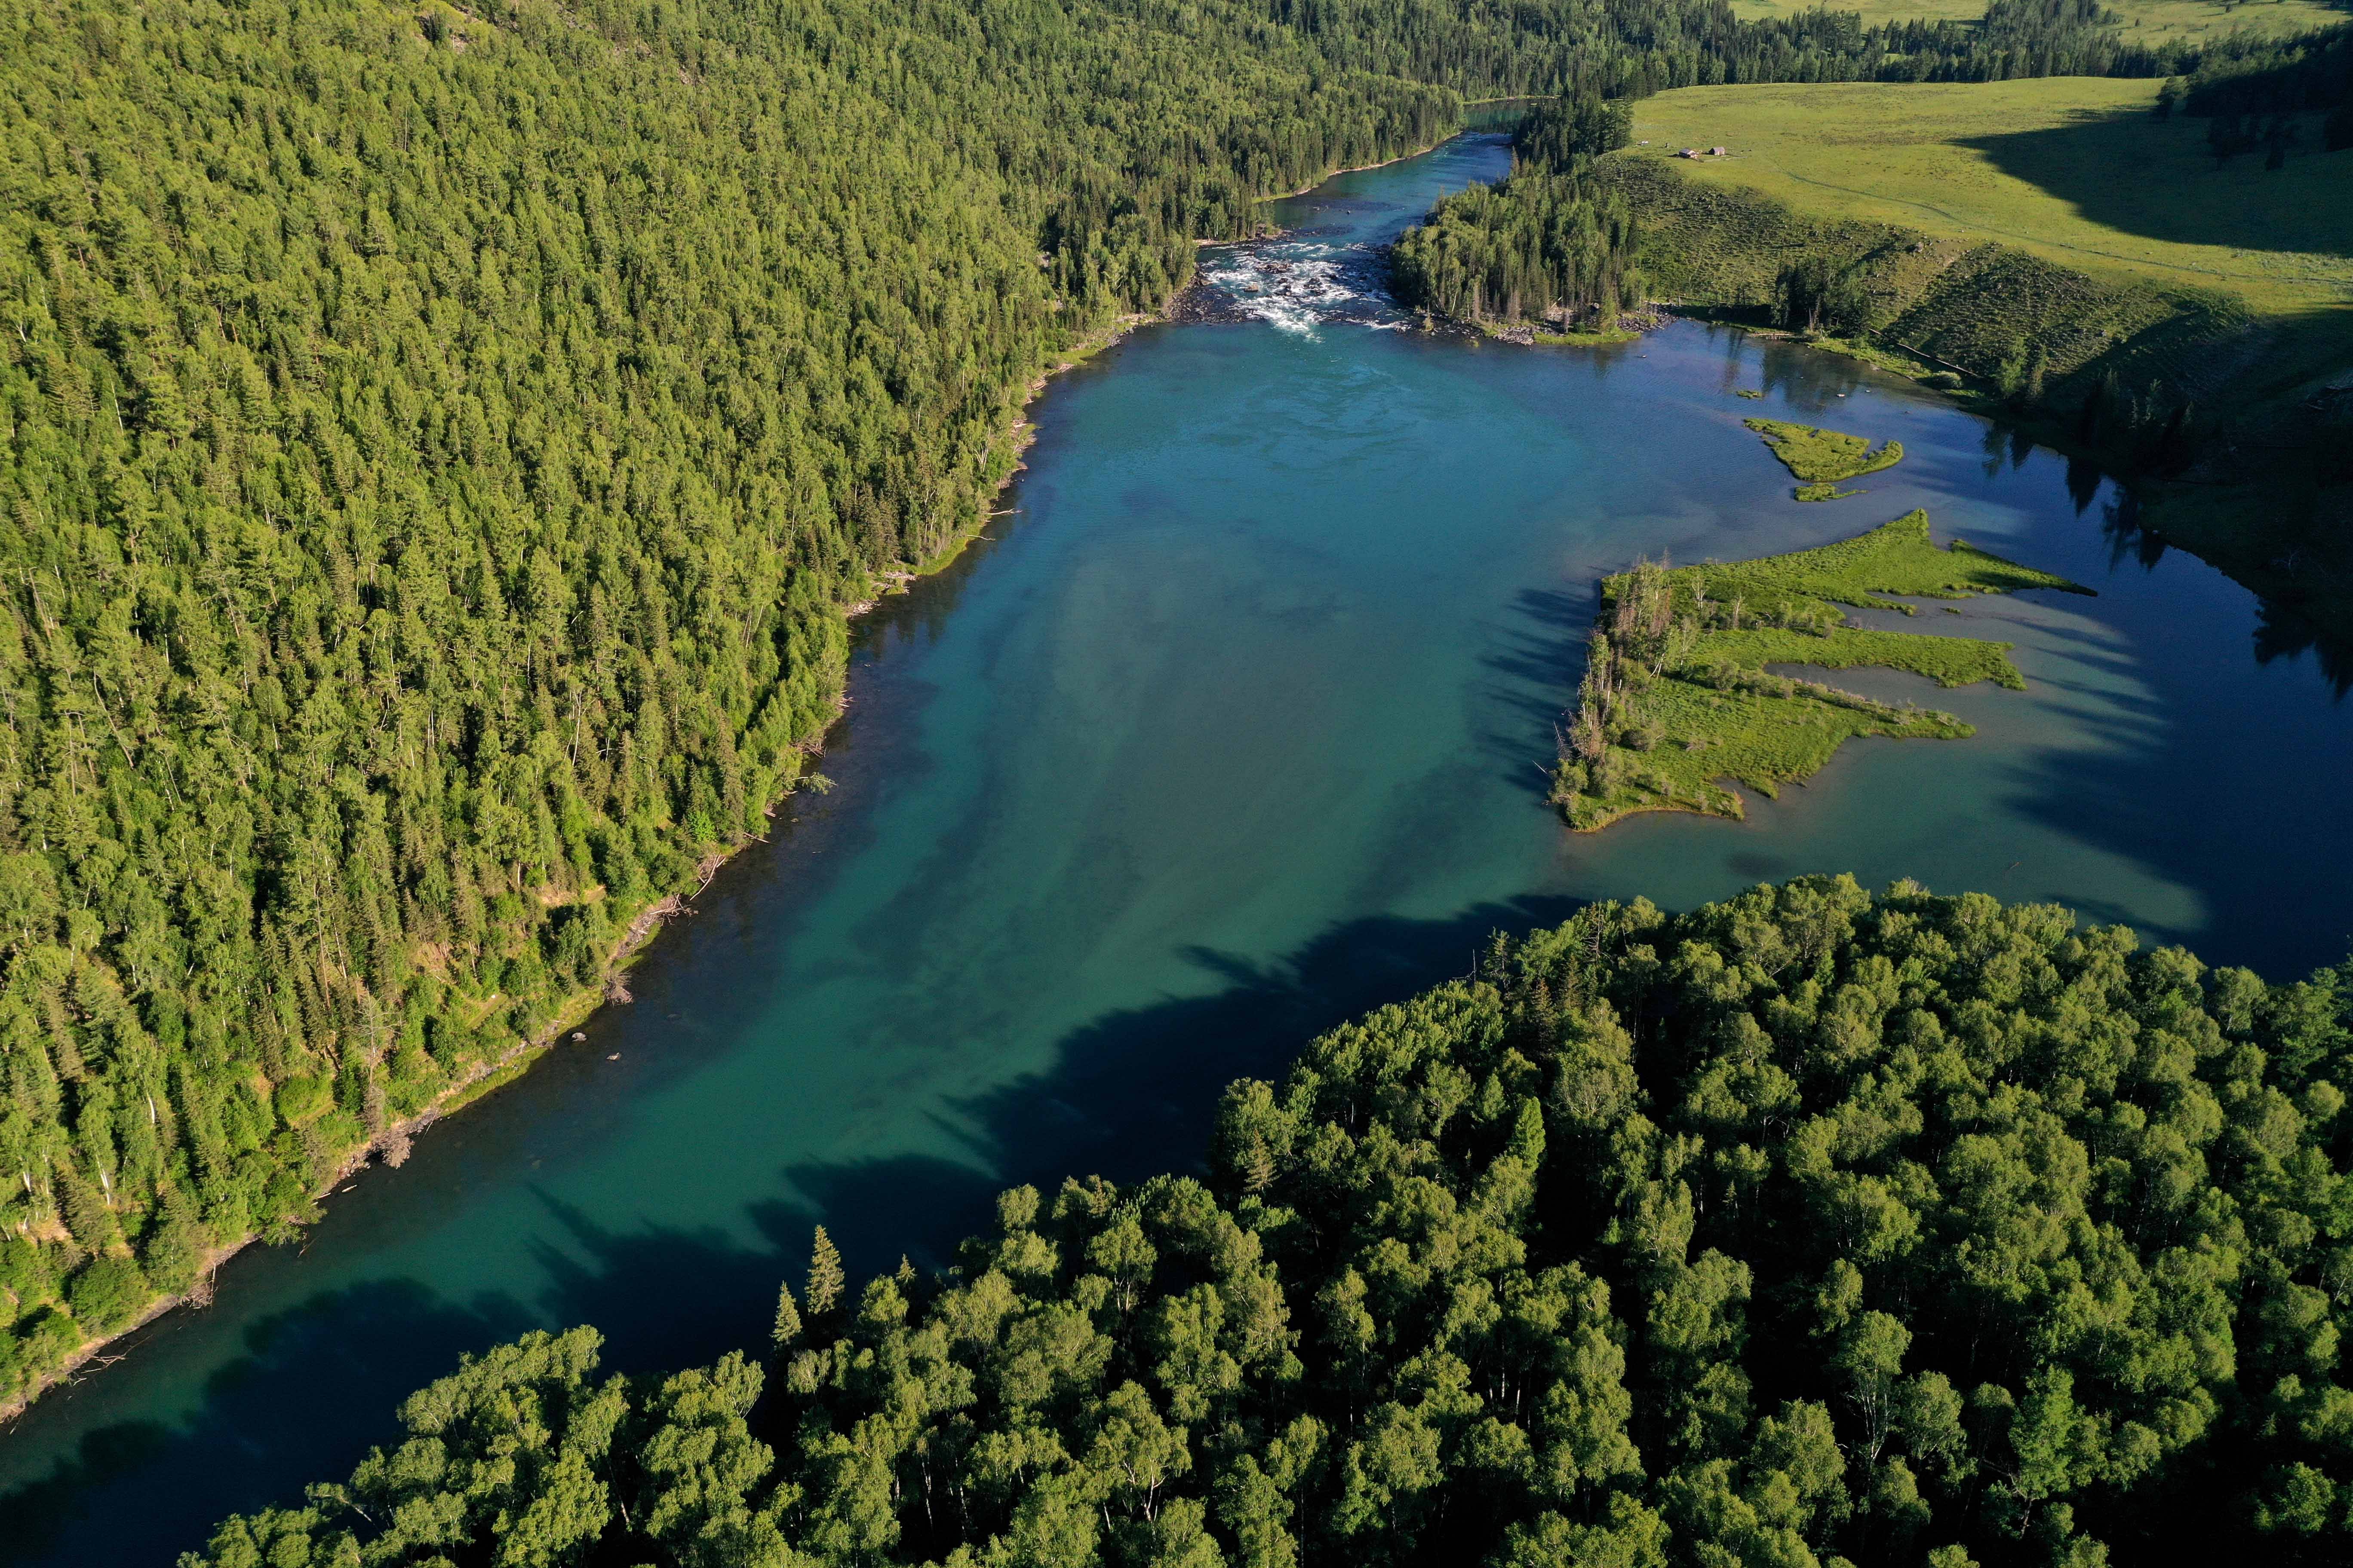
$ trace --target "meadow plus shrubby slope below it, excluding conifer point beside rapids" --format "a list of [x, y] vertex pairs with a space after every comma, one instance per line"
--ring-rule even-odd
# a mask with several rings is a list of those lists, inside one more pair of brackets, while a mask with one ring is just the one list
[[1868, 280], [1866, 353], [1958, 367], [2038, 440], [2144, 475], [2153, 425], [2087, 400], [2113, 376], [2158, 423], [2193, 402], [2198, 465], [2139, 484], [2141, 520], [2285, 607], [2266, 646], [2353, 679], [2353, 397], [2327, 390], [2353, 378], [2353, 150], [2217, 167], [2155, 89], [1697, 87], [1638, 103], [1652, 146], [1602, 169], [1668, 299], [1758, 313], [1784, 263], [1831, 256]]

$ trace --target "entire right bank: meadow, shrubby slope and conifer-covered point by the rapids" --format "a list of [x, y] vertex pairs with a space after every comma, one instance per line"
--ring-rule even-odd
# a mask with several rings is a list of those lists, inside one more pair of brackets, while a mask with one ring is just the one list
[[1522, 125], [1511, 179], [1400, 240], [1400, 296], [1529, 343], [1619, 336], [1657, 296], [1958, 393], [2127, 477], [2127, 531], [2264, 592], [2264, 656], [2318, 646], [2353, 682], [2353, 26], [2141, 45], [2127, 21], [1998, 5], [1981, 47], [2068, 75], [1911, 52], [1675, 89], [1642, 139], [1581, 87]]

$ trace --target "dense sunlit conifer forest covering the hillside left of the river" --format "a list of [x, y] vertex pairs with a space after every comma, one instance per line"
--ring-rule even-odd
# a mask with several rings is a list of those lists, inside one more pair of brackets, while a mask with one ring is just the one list
[[9, 9], [0, 1410], [619, 992], [1193, 240], [1464, 94], [1868, 68], [1701, 0]]

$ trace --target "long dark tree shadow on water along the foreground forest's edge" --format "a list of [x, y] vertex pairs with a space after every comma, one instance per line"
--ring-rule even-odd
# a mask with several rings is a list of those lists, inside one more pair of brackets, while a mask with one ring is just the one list
[[1520, 898], [1447, 919], [1358, 919], [1271, 964], [1195, 950], [1217, 980], [1209, 994], [1106, 1013], [1059, 1041], [1052, 1070], [948, 1105], [969, 1161], [784, 1161], [774, 1194], [746, 1204], [715, 1192], [713, 1213], [748, 1206], [755, 1244], [722, 1227], [609, 1227], [541, 1190], [555, 1232], [529, 1244], [548, 1281], [534, 1300], [459, 1305], [395, 1279], [256, 1321], [193, 1418], [104, 1425], [49, 1474], [0, 1493], [0, 1566], [167, 1563], [224, 1514], [299, 1505], [308, 1481], [339, 1479], [398, 1436], [409, 1392], [529, 1328], [593, 1324], [605, 1366], [621, 1373], [758, 1349], [779, 1276], [798, 1284], [807, 1265], [812, 1225], [833, 1232], [854, 1276], [871, 1276], [901, 1253], [944, 1265], [1009, 1185], [1052, 1192], [1064, 1175], [1200, 1168], [1231, 1079], [1278, 1074], [1313, 1034], [1466, 973], [1489, 931], [1555, 924], [1574, 907]]

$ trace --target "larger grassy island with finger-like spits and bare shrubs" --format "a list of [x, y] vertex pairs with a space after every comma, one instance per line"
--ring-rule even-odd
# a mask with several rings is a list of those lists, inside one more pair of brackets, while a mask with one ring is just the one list
[[1739, 818], [1741, 797], [1722, 780], [1769, 797], [1817, 773], [1849, 736], [1969, 736], [1948, 712], [1878, 703], [1769, 665], [1880, 665], [1941, 686], [2024, 686], [2007, 642], [1859, 628], [1840, 609], [1913, 614], [1887, 595], [1962, 599], [2019, 588], [2092, 592], [1960, 541], [1937, 548], [1918, 510], [1859, 538], [1755, 562], [1638, 562], [1602, 583], [1553, 804], [1581, 832], [1635, 811]]

